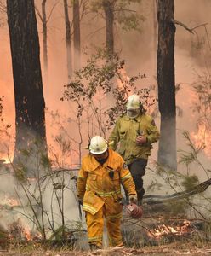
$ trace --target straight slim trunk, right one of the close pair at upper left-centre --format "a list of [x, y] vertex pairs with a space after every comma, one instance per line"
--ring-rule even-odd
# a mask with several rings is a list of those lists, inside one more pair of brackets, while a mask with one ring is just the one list
[[73, 1], [73, 40], [74, 40], [74, 69], [81, 66], [81, 34], [80, 34], [80, 7], [79, 0]]

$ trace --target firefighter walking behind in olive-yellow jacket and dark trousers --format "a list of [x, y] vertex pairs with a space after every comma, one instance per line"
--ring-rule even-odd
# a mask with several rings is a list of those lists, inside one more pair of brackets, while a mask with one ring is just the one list
[[145, 193], [142, 177], [145, 175], [147, 160], [151, 155], [151, 144], [157, 142], [160, 133], [155, 121], [145, 113], [138, 95], [128, 97], [126, 108], [127, 113], [117, 119], [109, 142], [113, 150], [118, 148], [117, 152], [128, 165], [134, 178], [138, 204], [141, 205]]

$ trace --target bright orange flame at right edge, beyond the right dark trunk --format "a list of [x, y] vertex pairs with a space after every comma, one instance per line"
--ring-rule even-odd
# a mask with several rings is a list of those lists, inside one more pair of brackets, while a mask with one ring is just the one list
[[191, 138], [197, 148], [203, 148], [204, 153], [211, 158], [211, 128], [205, 123], [197, 125], [197, 133], [191, 132]]

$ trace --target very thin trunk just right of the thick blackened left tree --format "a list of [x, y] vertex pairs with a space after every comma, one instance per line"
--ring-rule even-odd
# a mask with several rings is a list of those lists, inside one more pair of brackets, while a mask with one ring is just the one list
[[43, 15], [43, 64], [44, 71], [47, 73], [48, 70], [48, 49], [47, 49], [47, 19], [46, 19], [46, 5], [47, 0], [42, 1], [42, 15]]

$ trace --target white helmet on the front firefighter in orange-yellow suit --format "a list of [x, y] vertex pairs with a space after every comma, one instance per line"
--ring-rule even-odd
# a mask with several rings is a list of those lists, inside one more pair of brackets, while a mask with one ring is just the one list
[[90, 144], [89, 144], [89, 151], [92, 154], [103, 154], [106, 152], [108, 148], [108, 144], [106, 140], [101, 136], [94, 136], [92, 137]]

